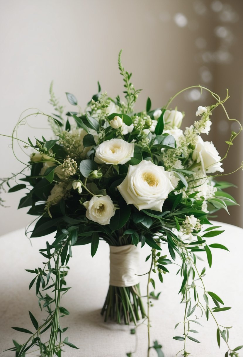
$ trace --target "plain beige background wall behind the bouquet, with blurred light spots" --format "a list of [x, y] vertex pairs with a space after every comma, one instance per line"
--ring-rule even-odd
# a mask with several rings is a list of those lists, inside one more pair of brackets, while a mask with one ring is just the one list
[[[222, 97], [228, 87], [228, 112], [242, 121], [241, 0], [1, 0], [0, 7], [1, 134], [11, 134], [26, 108], [52, 112], [48, 104], [51, 80], [67, 110], [71, 108], [64, 92], [75, 94], [84, 106], [97, 91], [97, 80], [109, 95], [121, 94], [123, 82], [117, 68], [121, 48], [123, 65], [133, 72], [135, 87], [143, 88], [138, 109], [145, 107], [148, 95], [153, 107], [159, 107], [183, 87], [200, 83]], [[211, 103], [210, 97], [189, 91], [174, 106], [186, 112], [185, 127], [195, 120], [198, 105]], [[212, 121], [209, 140], [223, 155], [224, 141], [237, 128], [229, 126], [220, 110]], [[46, 126], [40, 118], [32, 125]], [[26, 125], [20, 135], [40, 134]], [[1, 177], [22, 168], [9, 144], [9, 139], [1, 137]], [[17, 146], [16, 152], [24, 157]], [[225, 172], [240, 166], [242, 159], [241, 135], [224, 163]], [[227, 179], [239, 186], [233, 194], [242, 204], [242, 172]], [[0, 207], [1, 233], [30, 222], [27, 209], [16, 209], [22, 192], [3, 195], [10, 208]], [[242, 209], [233, 207], [231, 212], [218, 220], [242, 226]]]

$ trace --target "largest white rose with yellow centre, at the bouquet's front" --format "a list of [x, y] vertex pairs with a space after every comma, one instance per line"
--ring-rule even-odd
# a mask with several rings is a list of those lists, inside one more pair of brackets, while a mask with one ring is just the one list
[[132, 203], [139, 211], [160, 212], [169, 192], [174, 190], [170, 172], [146, 160], [129, 165], [125, 180], [117, 188], [128, 205]]

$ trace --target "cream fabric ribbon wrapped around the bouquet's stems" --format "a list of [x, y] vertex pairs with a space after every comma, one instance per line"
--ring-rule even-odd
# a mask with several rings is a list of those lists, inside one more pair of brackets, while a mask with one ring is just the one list
[[110, 246], [110, 285], [134, 286], [139, 283], [139, 250], [133, 244]]

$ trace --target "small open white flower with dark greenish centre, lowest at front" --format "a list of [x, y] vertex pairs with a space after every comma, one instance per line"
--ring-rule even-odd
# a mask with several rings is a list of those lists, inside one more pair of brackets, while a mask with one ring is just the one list
[[102, 226], [110, 223], [110, 218], [114, 216], [117, 209], [110, 196], [93, 196], [90, 201], [84, 202], [83, 205], [87, 209], [86, 217]]

